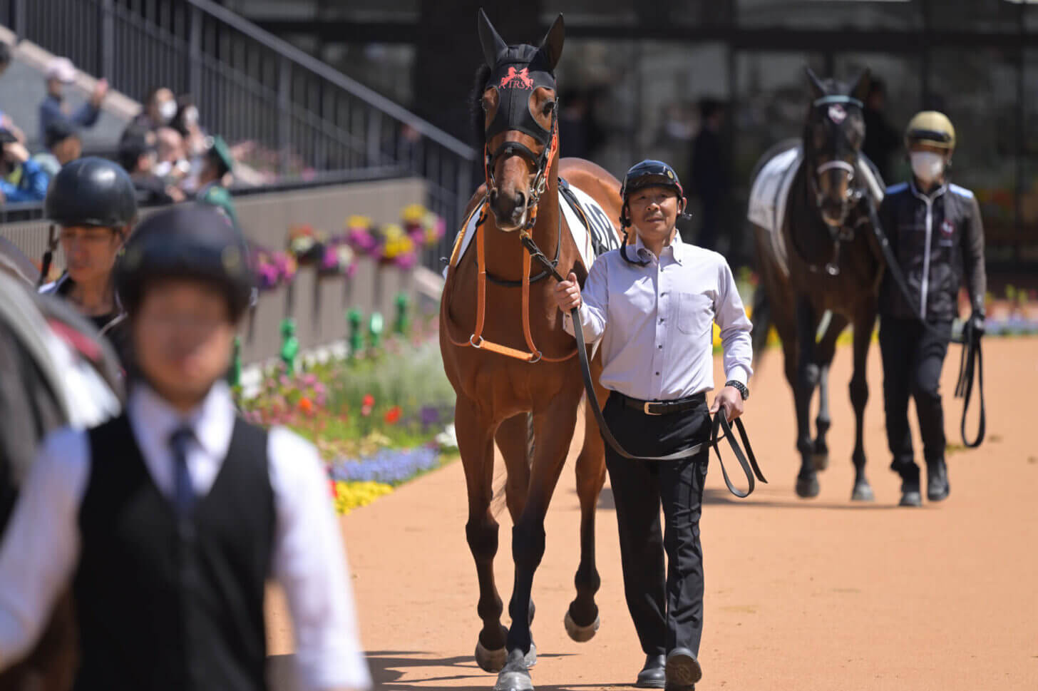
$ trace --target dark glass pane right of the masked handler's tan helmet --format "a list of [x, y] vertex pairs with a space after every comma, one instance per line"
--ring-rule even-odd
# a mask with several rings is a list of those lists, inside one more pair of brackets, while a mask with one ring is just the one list
[[1012, 260], [1016, 233], [1016, 57], [1011, 51], [935, 50], [924, 106], [955, 126], [952, 178], [977, 195], [987, 256]]

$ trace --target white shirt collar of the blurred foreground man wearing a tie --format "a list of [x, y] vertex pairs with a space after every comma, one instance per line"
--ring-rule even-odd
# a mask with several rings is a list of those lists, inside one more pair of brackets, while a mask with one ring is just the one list
[[[214, 459], [222, 459], [230, 444], [235, 425], [235, 404], [226, 382], [218, 381], [197, 407], [184, 415], [162, 398], [155, 389], [137, 383], [130, 392], [127, 412], [135, 421], [135, 431], [143, 447], [167, 448], [169, 436], [182, 426], [194, 433], [195, 441]], [[144, 449], [141, 449], [144, 450]]]

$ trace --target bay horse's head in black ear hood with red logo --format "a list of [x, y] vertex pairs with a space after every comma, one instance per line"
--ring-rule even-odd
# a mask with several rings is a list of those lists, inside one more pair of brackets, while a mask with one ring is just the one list
[[[501, 230], [528, 230], [537, 220], [537, 204], [558, 149], [554, 71], [564, 35], [559, 15], [539, 47], [509, 46], [480, 10], [480, 43], [490, 67], [482, 101], [488, 119], [484, 147], [487, 197]], [[510, 133], [517, 135], [510, 137]], [[496, 147], [491, 149], [494, 143]], [[531, 172], [525, 167], [522, 172], [526, 175], [516, 174], [514, 167], [504, 170], [502, 164], [513, 157], [525, 161]], [[499, 165], [501, 171], [496, 170]], [[517, 178], [522, 176], [526, 181], [520, 184]]]

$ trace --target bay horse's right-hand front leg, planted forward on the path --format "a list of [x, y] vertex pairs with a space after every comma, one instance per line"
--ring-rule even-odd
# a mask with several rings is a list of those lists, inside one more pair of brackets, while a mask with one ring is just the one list
[[497, 675], [497, 691], [528, 691], [534, 688], [527, 655], [532, 652], [529, 631], [529, 602], [534, 573], [544, 556], [544, 517], [566, 463], [566, 454], [576, 426], [579, 390], [563, 392], [534, 416], [537, 448], [530, 470], [529, 492], [522, 516], [512, 529], [512, 557], [515, 584], [509, 614], [508, 659]]

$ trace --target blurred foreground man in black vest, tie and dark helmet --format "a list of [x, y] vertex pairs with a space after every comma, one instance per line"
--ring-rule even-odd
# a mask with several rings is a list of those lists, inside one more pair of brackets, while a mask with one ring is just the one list
[[127, 243], [127, 407], [43, 443], [0, 548], [0, 668], [71, 584], [76, 688], [261, 691], [274, 577], [302, 688], [371, 688], [317, 449], [245, 422], [223, 381], [254, 283], [247, 259], [241, 233], [202, 204], [149, 216]]

